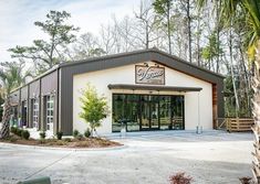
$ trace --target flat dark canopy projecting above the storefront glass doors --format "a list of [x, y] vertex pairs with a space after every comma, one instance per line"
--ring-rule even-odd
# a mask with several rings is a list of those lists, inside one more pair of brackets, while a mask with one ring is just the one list
[[154, 85], [127, 85], [110, 84], [108, 89], [129, 89], [129, 90], [157, 90], [157, 91], [200, 91], [200, 87], [180, 87], [180, 86], [154, 86]]

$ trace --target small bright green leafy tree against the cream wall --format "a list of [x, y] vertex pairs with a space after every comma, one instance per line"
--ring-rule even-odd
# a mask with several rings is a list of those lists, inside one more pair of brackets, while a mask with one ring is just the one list
[[101, 120], [106, 118], [108, 115], [108, 106], [104, 96], [98, 96], [97, 91], [90, 84], [82, 90], [82, 112], [80, 117], [90, 123], [91, 134], [93, 131], [101, 126]]

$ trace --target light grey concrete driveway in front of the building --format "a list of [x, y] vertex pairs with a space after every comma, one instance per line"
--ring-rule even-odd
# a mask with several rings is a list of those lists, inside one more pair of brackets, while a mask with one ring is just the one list
[[0, 183], [50, 176], [52, 183], [169, 183], [184, 171], [194, 183], [237, 184], [251, 176], [252, 133], [128, 133], [116, 149], [74, 151], [0, 143]]

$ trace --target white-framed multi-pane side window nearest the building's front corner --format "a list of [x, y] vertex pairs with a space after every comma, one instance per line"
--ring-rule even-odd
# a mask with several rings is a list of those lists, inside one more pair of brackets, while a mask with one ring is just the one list
[[53, 112], [54, 112], [53, 96], [46, 96], [46, 130], [53, 130]]

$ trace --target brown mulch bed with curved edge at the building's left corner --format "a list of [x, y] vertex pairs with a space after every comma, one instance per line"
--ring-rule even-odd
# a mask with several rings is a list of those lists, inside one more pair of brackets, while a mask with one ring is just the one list
[[40, 147], [54, 147], [54, 148], [112, 148], [122, 145], [118, 142], [110, 141], [104, 138], [64, 138], [58, 139], [22, 139], [18, 136], [11, 134], [9, 139], [0, 140], [0, 142], [25, 144], [25, 145], [40, 145]]

